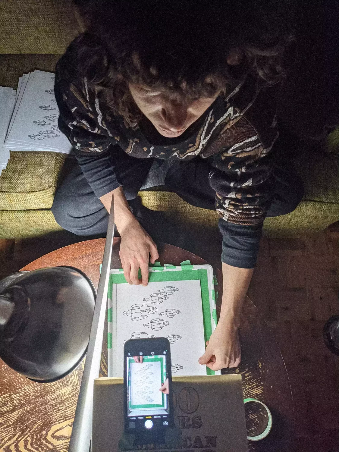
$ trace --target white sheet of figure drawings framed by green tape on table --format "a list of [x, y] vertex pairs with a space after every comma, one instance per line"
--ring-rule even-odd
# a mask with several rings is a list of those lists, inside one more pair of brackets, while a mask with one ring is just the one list
[[[170, 286], [178, 290], [168, 294], [158, 292]], [[165, 298], [162, 301], [161, 296]], [[146, 287], [113, 284], [112, 303], [117, 312], [114, 334], [118, 377], [123, 375], [124, 341], [140, 337], [170, 339], [172, 374], [206, 375], [206, 367], [198, 363], [198, 358], [205, 353], [199, 280], [149, 282]], [[154, 308], [155, 312], [147, 314], [149, 308]]]

